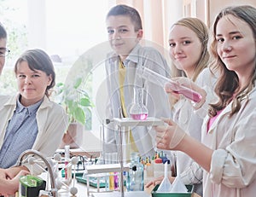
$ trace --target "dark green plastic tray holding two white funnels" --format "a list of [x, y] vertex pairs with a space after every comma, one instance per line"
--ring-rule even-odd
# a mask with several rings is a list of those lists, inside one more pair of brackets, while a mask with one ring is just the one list
[[152, 192], [151, 195], [152, 197], [191, 197], [194, 191], [194, 186], [193, 185], [186, 185], [186, 188], [188, 188], [188, 193], [157, 193], [158, 187], [160, 185], [156, 185]]

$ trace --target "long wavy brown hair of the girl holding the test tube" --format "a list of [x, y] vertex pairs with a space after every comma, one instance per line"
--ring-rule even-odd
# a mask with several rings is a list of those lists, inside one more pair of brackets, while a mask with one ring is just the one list
[[[209, 115], [215, 116], [218, 110], [226, 107], [230, 100], [232, 99], [234, 92], [239, 88], [239, 78], [236, 75], [236, 72], [228, 70], [223, 61], [219, 58], [217, 54], [217, 40], [216, 37], [216, 27], [218, 25], [218, 20], [220, 20], [225, 15], [231, 14], [239, 20], [243, 20], [247, 23], [248, 26], [253, 31], [253, 37], [256, 44], [256, 9], [252, 6], [242, 5], [242, 6], [233, 6], [223, 9], [216, 17], [213, 26], [212, 26], [212, 43], [210, 46], [210, 53], [212, 55], [212, 66], [216, 67], [220, 71], [220, 77], [218, 83], [216, 84], [215, 92], [219, 97], [217, 103], [210, 104]], [[247, 94], [253, 90], [255, 86], [256, 79], [256, 65], [251, 74], [251, 77], [248, 80], [248, 84], [245, 88], [240, 90], [235, 98], [233, 98], [232, 110], [230, 116], [234, 113], [237, 113], [241, 108], [241, 100], [247, 98]]]

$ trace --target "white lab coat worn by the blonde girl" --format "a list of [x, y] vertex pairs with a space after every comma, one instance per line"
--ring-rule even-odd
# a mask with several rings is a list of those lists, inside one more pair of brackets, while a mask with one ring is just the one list
[[[215, 100], [213, 94], [214, 85], [216, 84], [217, 77], [212, 74], [209, 68], [205, 68], [198, 76], [195, 84], [207, 91], [207, 103]], [[195, 113], [191, 101], [188, 99], [181, 99], [175, 103], [173, 107], [173, 120], [183, 129], [189, 136], [193, 136], [197, 141], [201, 142], [201, 125], [203, 118], [207, 114], [207, 110], [203, 112], [201, 109], [199, 113]], [[203, 115], [204, 114], [204, 115]], [[191, 159], [183, 152], [176, 152], [177, 159], [177, 175], [179, 175], [183, 183], [195, 184], [195, 192], [202, 194], [202, 169], [199, 165], [194, 164], [194, 159]]]

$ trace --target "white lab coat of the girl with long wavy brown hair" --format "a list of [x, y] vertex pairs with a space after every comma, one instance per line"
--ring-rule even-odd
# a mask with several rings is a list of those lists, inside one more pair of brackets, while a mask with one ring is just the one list
[[256, 194], [256, 88], [241, 101], [231, 118], [232, 102], [224, 108], [202, 142], [214, 150], [210, 172], [204, 171], [204, 197], [254, 197]]

